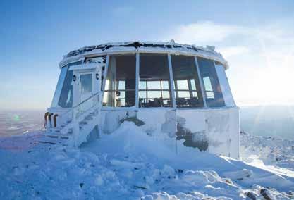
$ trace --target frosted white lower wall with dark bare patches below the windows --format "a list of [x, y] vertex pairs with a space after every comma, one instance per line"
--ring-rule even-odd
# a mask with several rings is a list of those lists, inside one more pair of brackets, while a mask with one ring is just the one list
[[[177, 151], [178, 142], [185, 146], [208, 151], [212, 154], [239, 158], [240, 123], [239, 108], [174, 109], [140, 108], [127, 110], [103, 110], [104, 134], [114, 132], [124, 119], [142, 122], [140, 127], [147, 135], [156, 137], [165, 133], [174, 137], [172, 147]], [[178, 154], [181, 154], [178, 152]]]

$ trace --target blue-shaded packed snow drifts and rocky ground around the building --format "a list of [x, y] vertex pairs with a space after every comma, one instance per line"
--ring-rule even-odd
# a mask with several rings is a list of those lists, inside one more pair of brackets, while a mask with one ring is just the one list
[[245, 163], [183, 145], [178, 156], [174, 139], [129, 122], [80, 149], [39, 144], [42, 134], [0, 139], [0, 199], [294, 199], [293, 165], [275, 159], [294, 142], [271, 154], [278, 143], [243, 134]]

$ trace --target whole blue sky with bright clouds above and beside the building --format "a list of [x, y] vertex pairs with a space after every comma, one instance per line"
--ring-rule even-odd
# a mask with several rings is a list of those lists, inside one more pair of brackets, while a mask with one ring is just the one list
[[0, 109], [45, 109], [68, 51], [105, 42], [213, 45], [238, 105], [294, 104], [294, 1], [0, 1]]

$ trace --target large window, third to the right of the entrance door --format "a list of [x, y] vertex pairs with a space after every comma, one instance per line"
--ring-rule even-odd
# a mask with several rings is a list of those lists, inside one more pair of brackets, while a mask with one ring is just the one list
[[200, 82], [192, 56], [171, 56], [176, 106], [203, 107]]

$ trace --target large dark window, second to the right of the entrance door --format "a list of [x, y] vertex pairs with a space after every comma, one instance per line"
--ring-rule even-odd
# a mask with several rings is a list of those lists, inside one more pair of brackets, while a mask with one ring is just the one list
[[139, 106], [172, 106], [167, 54], [140, 54]]

